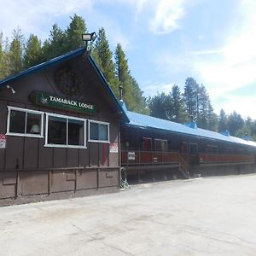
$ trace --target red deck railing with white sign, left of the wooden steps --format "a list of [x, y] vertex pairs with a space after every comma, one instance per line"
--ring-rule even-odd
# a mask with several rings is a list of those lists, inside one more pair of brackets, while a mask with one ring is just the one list
[[122, 166], [177, 164], [178, 152], [121, 150]]

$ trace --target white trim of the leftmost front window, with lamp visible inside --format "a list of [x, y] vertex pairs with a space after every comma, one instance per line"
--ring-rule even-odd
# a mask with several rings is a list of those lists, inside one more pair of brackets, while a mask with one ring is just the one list
[[[28, 108], [17, 108], [17, 107], [11, 107], [7, 106], [8, 108], [8, 117], [7, 117], [7, 132], [6, 135], [8, 136], [18, 136], [18, 137], [44, 137], [44, 112], [38, 111], [38, 110], [32, 110]], [[16, 132], [11, 132], [9, 131], [9, 122], [10, 122], [10, 112], [11, 110], [16, 110], [20, 112], [25, 112], [25, 113], [37, 113], [41, 115], [41, 127], [40, 127], [40, 134], [31, 134], [31, 133], [16, 133]], [[25, 120], [26, 122], [26, 120]]]

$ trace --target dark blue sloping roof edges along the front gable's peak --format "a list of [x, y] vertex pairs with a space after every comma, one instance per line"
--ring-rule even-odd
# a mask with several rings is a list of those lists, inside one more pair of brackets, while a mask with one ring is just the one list
[[[15, 80], [20, 79], [22, 77], [25, 77], [26, 75], [36, 73], [36, 72], [40, 71], [43, 68], [51, 67], [51, 66], [54, 66], [56, 64], [60, 64], [64, 61], [68, 61], [70, 59], [73, 59], [74, 57], [79, 56], [79, 55], [84, 55], [85, 52], [86, 52], [86, 48], [84, 48], [84, 47], [80, 48], [80, 49], [75, 49], [73, 51], [68, 52], [65, 55], [55, 57], [54, 59], [51, 59], [49, 61], [45, 61], [43, 63], [40, 63], [40, 64], [36, 65], [36, 66], [30, 67], [30, 68], [28, 68], [24, 71], [21, 71], [20, 73], [17, 73], [13, 76], [10, 76], [6, 79], [0, 80], [0, 87], [5, 86], [6, 84], [9, 84], [11, 82], [14, 82]], [[96, 73], [98, 74], [98, 76], [102, 80], [102, 84], [104, 85], [105, 89], [108, 90], [108, 93], [111, 96], [113, 102], [116, 104], [117, 108], [119, 109], [119, 113], [121, 113], [125, 117], [125, 120], [128, 121], [128, 117], [127, 117], [125, 111], [119, 105], [119, 100], [114, 95], [113, 90], [111, 89], [110, 85], [108, 84], [108, 81], [105, 79], [105, 77], [102, 74], [99, 67], [97, 67], [96, 61], [94, 61], [94, 59], [92, 58], [91, 55], [88, 56], [88, 60], [90, 61], [91, 66], [95, 69]]]

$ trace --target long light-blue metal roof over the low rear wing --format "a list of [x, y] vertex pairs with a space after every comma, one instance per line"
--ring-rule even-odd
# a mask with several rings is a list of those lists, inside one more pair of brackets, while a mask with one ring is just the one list
[[[125, 108], [123, 108], [125, 110]], [[201, 128], [190, 128], [187, 125], [178, 124], [175, 122], [167, 121], [164, 119], [154, 118], [141, 113], [134, 113], [131, 111], [126, 111], [130, 122], [125, 124], [126, 126], [133, 126], [142, 129], [159, 129], [163, 131], [172, 131], [177, 133], [182, 133], [186, 135], [191, 135], [195, 137], [203, 137], [207, 139], [213, 139], [218, 141], [224, 141], [229, 143], [239, 143], [244, 145], [250, 145], [256, 147], [256, 143], [252, 141], [246, 141], [238, 137], [228, 137], [215, 131], [208, 131]]]

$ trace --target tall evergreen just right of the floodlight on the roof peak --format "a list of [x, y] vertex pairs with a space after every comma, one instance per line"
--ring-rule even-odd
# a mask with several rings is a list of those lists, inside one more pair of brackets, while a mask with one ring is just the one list
[[109, 48], [106, 32], [103, 27], [99, 29], [92, 55], [98, 67], [102, 70], [104, 77], [107, 79], [108, 84], [110, 84], [115, 96], [118, 97], [119, 79], [115, 75], [113, 53]]

